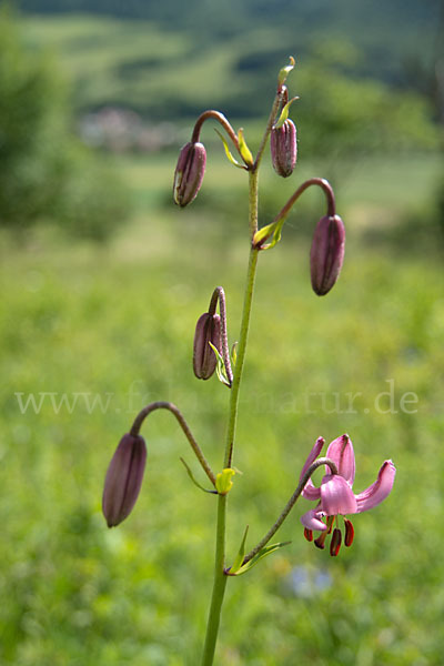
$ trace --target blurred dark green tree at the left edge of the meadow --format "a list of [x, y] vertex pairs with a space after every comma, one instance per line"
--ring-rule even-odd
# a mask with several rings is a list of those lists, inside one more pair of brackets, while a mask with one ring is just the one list
[[0, 11], [0, 225], [51, 220], [103, 239], [129, 211], [123, 185], [70, 132], [68, 87], [46, 54], [27, 51]]

